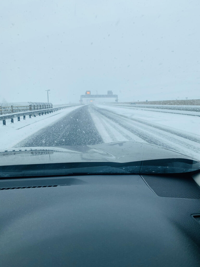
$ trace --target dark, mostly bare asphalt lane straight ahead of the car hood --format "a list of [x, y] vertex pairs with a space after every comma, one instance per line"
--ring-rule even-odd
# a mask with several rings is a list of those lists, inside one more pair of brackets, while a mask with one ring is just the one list
[[78, 146], [103, 143], [88, 112], [88, 107], [85, 105], [75, 109], [16, 146]]

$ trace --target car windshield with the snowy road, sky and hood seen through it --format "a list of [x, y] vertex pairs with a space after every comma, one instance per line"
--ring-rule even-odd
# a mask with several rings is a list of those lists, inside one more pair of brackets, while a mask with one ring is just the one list
[[[63, 163], [65, 155], [67, 168], [93, 161], [109, 166], [103, 173], [141, 173], [133, 162], [144, 160], [151, 161], [148, 173], [160, 173], [152, 160], [175, 158], [199, 169], [199, 1], [0, 6], [0, 166], [33, 168], [30, 155], [37, 164]], [[116, 165], [122, 158], [134, 169]], [[108, 161], [115, 164], [98, 165]], [[169, 164], [159, 165], [163, 173], [186, 168]]]

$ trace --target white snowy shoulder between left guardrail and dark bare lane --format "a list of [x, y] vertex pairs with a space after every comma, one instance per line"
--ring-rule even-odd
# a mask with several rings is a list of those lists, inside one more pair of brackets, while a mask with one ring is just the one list
[[19, 143], [23, 139], [29, 137], [49, 124], [55, 123], [55, 121], [80, 107], [82, 106], [61, 109], [43, 116], [31, 117], [31, 119], [29, 119], [29, 116], [26, 116], [26, 120], [23, 120], [22, 117], [21, 121], [17, 121], [17, 118], [14, 118], [14, 123], [11, 123], [10, 119], [6, 120], [6, 126], [0, 126], [0, 148], [4, 149], [8, 147], [15, 147], [15, 144]]

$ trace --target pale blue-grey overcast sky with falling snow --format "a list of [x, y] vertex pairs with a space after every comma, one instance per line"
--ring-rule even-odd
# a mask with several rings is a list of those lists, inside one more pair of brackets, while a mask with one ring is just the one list
[[[199, 0], [1, 1], [0, 102], [200, 98]], [[114, 99], [113, 99], [114, 101]]]

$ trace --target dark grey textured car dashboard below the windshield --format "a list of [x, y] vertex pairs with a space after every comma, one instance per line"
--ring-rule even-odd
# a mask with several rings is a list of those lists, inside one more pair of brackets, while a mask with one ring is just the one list
[[200, 266], [188, 175], [0, 180], [0, 266]]

